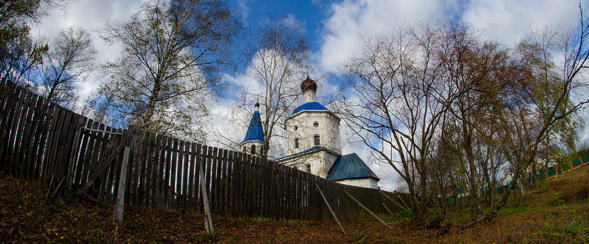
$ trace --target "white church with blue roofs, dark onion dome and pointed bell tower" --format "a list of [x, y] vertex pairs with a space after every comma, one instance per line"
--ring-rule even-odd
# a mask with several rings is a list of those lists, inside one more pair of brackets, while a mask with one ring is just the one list
[[[317, 103], [317, 83], [307, 74], [300, 89], [305, 103], [284, 120], [288, 155], [274, 161], [334, 182], [378, 188], [380, 178], [358, 154], [342, 155], [340, 118]], [[250, 154], [259, 154], [264, 145], [259, 108], [260, 104], [256, 103], [246, 136], [240, 143]]]

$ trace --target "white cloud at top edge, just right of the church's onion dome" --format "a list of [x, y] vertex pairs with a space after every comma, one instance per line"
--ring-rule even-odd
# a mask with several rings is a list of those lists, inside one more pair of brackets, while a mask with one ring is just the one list
[[432, 21], [446, 18], [454, 1], [346, 0], [333, 4], [323, 21], [319, 62], [326, 71], [336, 71], [350, 55], [360, 51], [360, 35], [388, 34], [396, 22]]

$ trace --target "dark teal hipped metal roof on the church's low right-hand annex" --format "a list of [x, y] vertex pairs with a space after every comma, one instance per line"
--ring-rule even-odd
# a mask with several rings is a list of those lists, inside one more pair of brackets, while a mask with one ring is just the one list
[[358, 154], [350, 153], [338, 157], [333, 163], [329, 173], [327, 173], [327, 180], [345, 180], [356, 178], [373, 178], [380, 180], [378, 176], [360, 159]]

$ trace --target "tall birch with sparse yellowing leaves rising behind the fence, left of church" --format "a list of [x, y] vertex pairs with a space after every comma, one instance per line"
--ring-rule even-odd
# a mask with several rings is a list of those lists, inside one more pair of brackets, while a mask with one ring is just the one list
[[101, 32], [123, 45], [118, 60], [102, 65], [110, 78], [98, 93], [111, 118], [142, 130], [204, 140], [200, 121], [221, 85], [241, 33], [236, 13], [220, 0], [153, 0], [123, 23]]

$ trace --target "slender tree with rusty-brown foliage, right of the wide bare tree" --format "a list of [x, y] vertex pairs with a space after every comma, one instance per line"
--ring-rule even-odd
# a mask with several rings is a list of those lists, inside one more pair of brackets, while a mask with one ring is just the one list
[[[508, 52], [501, 44], [483, 41], [468, 23], [444, 24], [444, 71], [456, 97], [449, 107], [446, 126], [455, 128], [446, 146], [458, 155], [459, 171], [467, 179], [471, 213], [481, 215], [481, 197], [489, 185], [492, 166], [497, 96], [502, 94]], [[495, 135], [494, 135], [495, 134]]]

